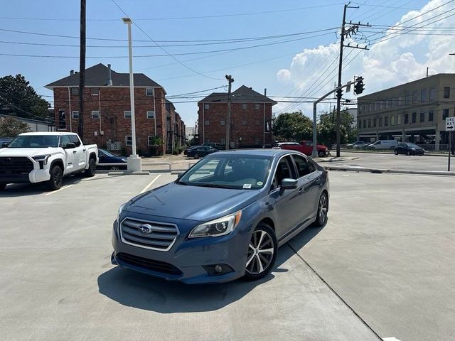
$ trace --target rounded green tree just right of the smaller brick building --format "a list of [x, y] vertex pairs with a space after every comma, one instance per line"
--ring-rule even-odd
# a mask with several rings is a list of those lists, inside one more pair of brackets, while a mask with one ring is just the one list
[[298, 112], [284, 112], [274, 121], [274, 134], [285, 141], [301, 141], [311, 139], [313, 128], [309, 117]]

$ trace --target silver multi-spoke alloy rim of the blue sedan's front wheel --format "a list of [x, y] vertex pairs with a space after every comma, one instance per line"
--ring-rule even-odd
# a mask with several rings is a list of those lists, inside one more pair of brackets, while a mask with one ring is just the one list
[[257, 229], [252, 233], [248, 246], [246, 270], [249, 274], [267, 271], [274, 256], [274, 242], [270, 234]]

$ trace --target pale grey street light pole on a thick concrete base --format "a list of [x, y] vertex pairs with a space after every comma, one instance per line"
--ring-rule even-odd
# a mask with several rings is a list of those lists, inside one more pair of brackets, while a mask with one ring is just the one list
[[141, 158], [136, 153], [136, 121], [134, 120], [134, 75], [133, 75], [133, 48], [131, 18], [122, 18], [122, 21], [128, 25], [128, 56], [129, 56], [129, 101], [131, 111], [131, 134], [132, 134], [132, 155], [128, 158], [128, 171], [141, 171]]

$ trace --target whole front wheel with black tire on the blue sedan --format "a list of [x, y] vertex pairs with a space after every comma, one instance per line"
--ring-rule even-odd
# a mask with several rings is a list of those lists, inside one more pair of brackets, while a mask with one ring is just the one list
[[264, 222], [259, 223], [252, 232], [250, 243], [248, 243], [245, 278], [255, 281], [267, 276], [273, 269], [277, 252], [278, 241], [274, 230]]

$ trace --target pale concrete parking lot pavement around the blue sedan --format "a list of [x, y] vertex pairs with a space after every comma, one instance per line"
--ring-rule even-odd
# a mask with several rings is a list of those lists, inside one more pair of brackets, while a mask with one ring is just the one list
[[175, 178], [102, 174], [0, 193], [1, 339], [455, 337], [451, 177], [331, 172], [328, 224], [282, 247], [259, 282], [186, 286], [112, 266], [117, 207]]

